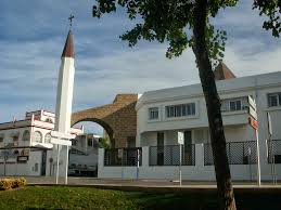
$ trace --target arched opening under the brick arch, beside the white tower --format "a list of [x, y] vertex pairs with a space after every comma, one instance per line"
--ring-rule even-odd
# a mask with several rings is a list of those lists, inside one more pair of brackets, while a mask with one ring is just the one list
[[99, 148], [112, 146], [114, 132], [107, 123], [90, 118], [77, 121], [73, 128], [82, 128], [84, 132], [72, 140], [68, 175], [97, 176]]

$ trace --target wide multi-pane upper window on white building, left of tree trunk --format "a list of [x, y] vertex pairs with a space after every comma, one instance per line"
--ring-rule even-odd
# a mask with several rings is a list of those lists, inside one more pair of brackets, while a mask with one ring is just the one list
[[195, 103], [166, 106], [166, 117], [186, 117], [195, 115]]

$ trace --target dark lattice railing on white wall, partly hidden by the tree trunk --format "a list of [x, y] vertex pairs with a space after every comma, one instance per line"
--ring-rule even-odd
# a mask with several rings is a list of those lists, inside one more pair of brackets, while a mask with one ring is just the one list
[[[229, 165], [254, 165], [256, 163], [256, 141], [228, 142], [226, 144]], [[204, 165], [214, 165], [210, 143], [204, 144]]]

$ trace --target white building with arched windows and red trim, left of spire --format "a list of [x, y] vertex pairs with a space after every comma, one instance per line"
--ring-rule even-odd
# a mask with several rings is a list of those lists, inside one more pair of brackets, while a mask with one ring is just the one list
[[[28, 111], [23, 120], [0, 123], [0, 175], [53, 175], [51, 131], [55, 115]], [[82, 128], [72, 128], [81, 134]]]

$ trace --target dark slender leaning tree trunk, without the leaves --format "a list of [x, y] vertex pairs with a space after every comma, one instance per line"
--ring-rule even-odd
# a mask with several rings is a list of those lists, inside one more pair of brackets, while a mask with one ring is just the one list
[[206, 101], [219, 207], [220, 209], [233, 210], [237, 208], [226, 152], [226, 137], [220, 111], [220, 100], [206, 47], [207, 0], [196, 0], [193, 15], [193, 51], [196, 57], [200, 79]]

